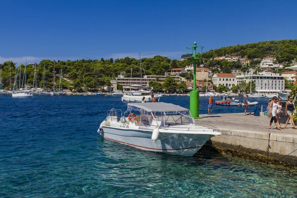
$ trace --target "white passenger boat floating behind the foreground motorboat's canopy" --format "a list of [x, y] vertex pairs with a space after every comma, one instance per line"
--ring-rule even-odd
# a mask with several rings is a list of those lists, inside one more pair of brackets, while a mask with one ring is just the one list
[[132, 91], [124, 92], [122, 101], [141, 102], [143, 97], [145, 97], [147, 102], [151, 102], [152, 101], [151, 95], [153, 95], [154, 98], [157, 99], [158, 101], [160, 101], [160, 98], [162, 97], [161, 94], [154, 95], [152, 90], [149, 90], [149, 91], [139, 90], [134, 92]]

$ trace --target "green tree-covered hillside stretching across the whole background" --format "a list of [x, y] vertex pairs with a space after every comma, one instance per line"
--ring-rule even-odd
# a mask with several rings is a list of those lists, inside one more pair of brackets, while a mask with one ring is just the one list
[[[228, 54], [238, 54], [242, 57], [247, 56], [251, 59], [249, 65], [242, 66], [239, 61], [227, 61], [227, 60], [214, 60], [217, 56], [226, 56]], [[282, 40], [282, 41], [268, 41], [259, 42], [246, 45], [237, 45], [230, 47], [223, 47], [220, 49], [209, 50], [202, 54], [203, 59], [198, 61], [197, 64], [203, 64], [204, 67], [210, 68], [212, 73], [224, 72], [231, 73], [232, 69], [239, 69], [243, 72], [248, 71], [250, 68], [254, 68], [256, 71], [259, 69], [257, 65], [260, 63], [260, 59], [266, 55], [273, 55], [276, 58], [276, 62], [283, 63], [285, 66], [292, 64], [297, 59], [297, 40]], [[176, 59], [171, 60], [168, 57], [156, 55], [152, 58], [142, 58], [142, 70], [144, 75], [164, 75], [165, 72], [170, 72], [172, 68], [183, 68], [187, 65], [194, 63], [193, 58], [189, 58], [183, 61]], [[9, 89], [13, 88], [15, 80], [16, 85], [19, 84], [19, 77], [15, 79], [15, 75], [19, 76], [19, 68], [21, 68], [21, 84], [25, 84], [24, 70], [25, 65], [16, 67], [15, 62], [6, 61], [1, 64], [2, 68], [2, 86], [1, 88]], [[125, 72], [125, 77], [140, 77], [140, 62], [135, 58], [121, 58], [121, 59], [103, 59], [100, 60], [42, 60], [37, 65], [37, 85], [39, 88], [43, 88], [43, 74], [45, 68], [45, 87], [51, 90], [53, 84], [53, 66], [55, 67], [55, 83], [56, 87], [61, 81], [62, 89], [69, 89], [80, 92], [83, 90], [91, 91], [100, 89], [102, 86], [110, 85], [109, 80], [111, 78], [116, 79], [120, 72]], [[62, 70], [62, 76], [60, 77], [60, 71]], [[193, 79], [193, 73], [183, 74], [187, 80]], [[27, 65], [26, 68], [26, 85], [33, 86], [34, 80], [34, 67]], [[152, 83], [150, 83], [152, 84]], [[16, 86], [18, 88], [18, 86]], [[162, 88], [166, 90], [185, 90], [185, 84], [177, 84], [171, 78], [161, 86], [160, 84], [153, 84], [153, 87], [160, 91]]]

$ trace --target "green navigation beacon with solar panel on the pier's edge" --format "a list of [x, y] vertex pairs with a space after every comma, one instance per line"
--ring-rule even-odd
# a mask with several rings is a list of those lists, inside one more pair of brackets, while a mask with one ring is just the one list
[[[197, 46], [197, 43], [194, 42], [194, 46], [187, 47], [187, 53], [181, 56], [181, 59], [191, 58], [194, 55], [194, 80], [193, 80], [193, 91], [190, 92], [190, 112], [193, 118], [199, 117], [199, 92], [196, 89], [196, 60], [202, 59], [202, 49], [204, 47]], [[200, 53], [196, 54], [196, 50], [201, 50]]]

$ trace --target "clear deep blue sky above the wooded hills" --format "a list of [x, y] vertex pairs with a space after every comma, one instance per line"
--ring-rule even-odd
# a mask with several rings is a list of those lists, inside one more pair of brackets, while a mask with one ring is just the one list
[[27, 57], [179, 59], [204, 51], [297, 39], [297, 1], [6, 0], [0, 9], [0, 62]]

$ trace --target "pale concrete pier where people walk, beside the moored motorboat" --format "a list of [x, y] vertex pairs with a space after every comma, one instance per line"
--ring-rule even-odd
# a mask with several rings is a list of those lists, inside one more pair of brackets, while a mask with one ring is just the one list
[[293, 125], [289, 124], [289, 129], [268, 129], [270, 118], [244, 113], [200, 116], [203, 119], [196, 119], [197, 123], [212, 125], [223, 134], [210, 140], [221, 153], [297, 168], [297, 129]]

